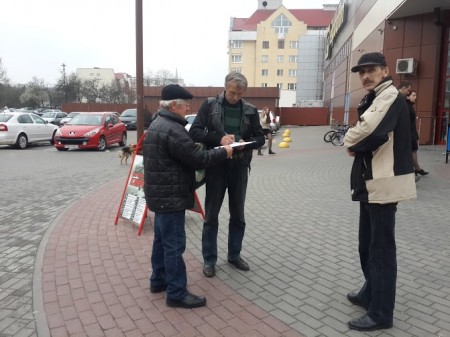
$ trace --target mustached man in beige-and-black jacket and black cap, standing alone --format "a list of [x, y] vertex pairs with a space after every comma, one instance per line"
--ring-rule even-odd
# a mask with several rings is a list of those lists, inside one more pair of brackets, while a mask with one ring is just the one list
[[392, 84], [383, 54], [361, 56], [352, 72], [368, 91], [358, 106], [358, 122], [344, 145], [355, 159], [352, 200], [360, 202], [359, 257], [365, 283], [348, 300], [367, 310], [348, 322], [350, 329], [392, 327], [397, 280], [395, 213], [397, 203], [416, 197], [409, 112]]

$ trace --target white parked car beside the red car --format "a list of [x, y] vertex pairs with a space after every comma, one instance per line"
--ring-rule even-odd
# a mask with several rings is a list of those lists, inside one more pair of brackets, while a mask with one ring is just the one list
[[50, 142], [59, 127], [29, 112], [0, 113], [0, 145], [25, 149], [35, 142]]

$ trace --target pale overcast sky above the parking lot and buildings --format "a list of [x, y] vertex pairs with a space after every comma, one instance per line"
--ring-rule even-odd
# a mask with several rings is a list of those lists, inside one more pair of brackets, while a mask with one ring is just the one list
[[[339, 0], [283, 0], [289, 9]], [[257, 0], [143, 0], [144, 73], [168, 70], [186, 85], [222, 86], [230, 17], [250, 17]], [[0, 58], [12, 83], [53, 85], [77, 68], [136, 75], [135, 1], [4, 0]]]

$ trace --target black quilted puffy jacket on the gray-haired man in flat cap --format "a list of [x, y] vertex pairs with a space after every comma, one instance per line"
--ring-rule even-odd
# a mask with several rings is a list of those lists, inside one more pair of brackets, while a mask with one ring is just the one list
[[204, 150], [194, 143], [186, 124], [183, 117], [161, 109], [145, 136], [144, 192], [153, 212], [193, 208], [195, 169], [227, 157], [225, 149]]

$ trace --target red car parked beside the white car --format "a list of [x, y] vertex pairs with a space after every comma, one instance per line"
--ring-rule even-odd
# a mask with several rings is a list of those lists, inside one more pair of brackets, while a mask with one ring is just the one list
[[99, 149], [111, 144], [127, 144], [127, 128], [113, 112], [82, 112], [64, 124], [55, 134], [58, 151]]

